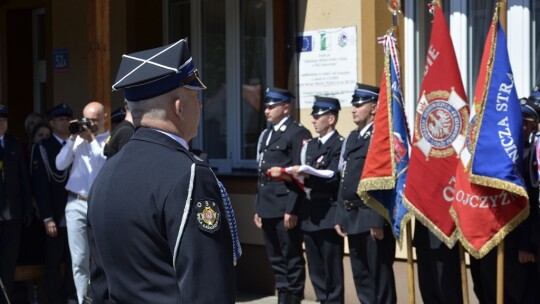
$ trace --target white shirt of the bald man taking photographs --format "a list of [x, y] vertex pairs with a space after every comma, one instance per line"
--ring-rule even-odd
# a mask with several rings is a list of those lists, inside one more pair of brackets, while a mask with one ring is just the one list
[[88, 195], [94, 179], [107, 159], [103, 155], [103, 147], [108, 137], [109, 131], [106, 131], [98, 134], [91, 143], [80, 136], [77, 136], [75, 141], [67, 140], [56, 156], [58, 170], [65, 170], [71, 165], [66, 190]]

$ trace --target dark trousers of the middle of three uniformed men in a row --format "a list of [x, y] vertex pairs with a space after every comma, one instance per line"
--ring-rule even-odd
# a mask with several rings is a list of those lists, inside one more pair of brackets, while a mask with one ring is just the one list
[[317, 301], [343, 304], [343, 238], [334, 229], [304, 231], [304, 244]]

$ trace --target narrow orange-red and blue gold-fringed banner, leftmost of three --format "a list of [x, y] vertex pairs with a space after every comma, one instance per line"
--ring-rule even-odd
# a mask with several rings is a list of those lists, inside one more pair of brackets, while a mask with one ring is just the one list
[[358, 194], [366, 205], [386, 218], [401, 244], [401, 227], [410, 219], [403, 206], [409, 143], [393, 30], [380, 40], [384, 45], [384, 71], [373, 125], [376, 131], [371, 138]]

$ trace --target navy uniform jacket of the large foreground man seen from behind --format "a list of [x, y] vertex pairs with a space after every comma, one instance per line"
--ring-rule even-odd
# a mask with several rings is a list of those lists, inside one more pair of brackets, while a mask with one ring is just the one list
[[138, 129], [105, 163], [90, 191], [88, 236], [114, 303], [234, 303], [233, 247], [216, 177], [163, 133]]

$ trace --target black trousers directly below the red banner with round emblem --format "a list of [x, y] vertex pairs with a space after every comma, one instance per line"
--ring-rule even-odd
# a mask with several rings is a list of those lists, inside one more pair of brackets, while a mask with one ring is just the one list
[[416, 245], [418, 285], [424, 303], [463, 303], [459, 244], [452, 249], [442, 245], [431, 249], [429, 244]]

